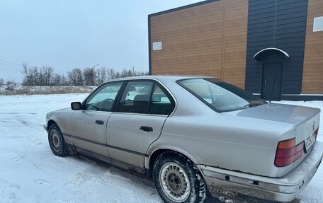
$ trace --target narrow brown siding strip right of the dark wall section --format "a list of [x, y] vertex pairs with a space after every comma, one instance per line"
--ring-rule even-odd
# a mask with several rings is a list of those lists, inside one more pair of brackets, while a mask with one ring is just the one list
[[302, 93], [323, 93], [323, 31], [313, 32], [314, 18], [323, 16], [323, 1], [309, 0]]

